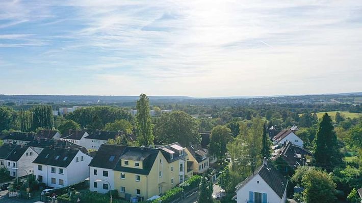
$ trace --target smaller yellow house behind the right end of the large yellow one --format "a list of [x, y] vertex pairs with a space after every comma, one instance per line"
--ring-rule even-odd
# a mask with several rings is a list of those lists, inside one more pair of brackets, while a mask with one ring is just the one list
[[188, 170], [192, 169], [194, 174], [201, 174], [208, 171], [210, 163], [209, 155], [200, 145], [191, 145], [186, 147], [185, 151], [188, 154]]

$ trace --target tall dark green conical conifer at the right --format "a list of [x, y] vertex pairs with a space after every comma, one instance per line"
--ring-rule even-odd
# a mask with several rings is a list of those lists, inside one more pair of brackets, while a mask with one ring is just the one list
[[333, 166], [343, 163], [332, 120], [327, 113], [323, 115], [319, 122], [315, 143], [314, 157], [317, 166], [331, 172]]

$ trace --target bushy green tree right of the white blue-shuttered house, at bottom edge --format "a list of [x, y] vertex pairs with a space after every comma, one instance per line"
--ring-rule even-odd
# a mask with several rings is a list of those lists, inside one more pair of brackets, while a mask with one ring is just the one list
[[331, 175], [324, 171], [308, 170], [302, 177], [302, 192], [305, 203], [335, 202], [335, 183]]

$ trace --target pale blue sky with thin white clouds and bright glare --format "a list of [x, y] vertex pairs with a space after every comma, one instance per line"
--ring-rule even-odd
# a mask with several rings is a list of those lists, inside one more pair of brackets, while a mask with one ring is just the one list
[[362, 1], [0, 1], [0, 94], [362, 92]]

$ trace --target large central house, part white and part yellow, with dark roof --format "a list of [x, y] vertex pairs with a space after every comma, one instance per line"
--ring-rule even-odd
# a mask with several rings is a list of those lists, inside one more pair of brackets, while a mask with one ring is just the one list
[[[140, 201], [164, 194], [185, 179], [184, 148], [173, 143], [157, 149], [101, 145], [90, 166], [90, 190]], [[96, 181], [101, 180], [101, 181]]]

